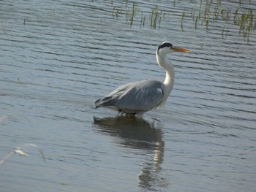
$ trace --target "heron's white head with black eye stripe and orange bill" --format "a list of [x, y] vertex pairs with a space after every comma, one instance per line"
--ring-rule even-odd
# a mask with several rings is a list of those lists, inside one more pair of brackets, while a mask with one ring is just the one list
[[173, 44], [171, 44], [170, 42], [162, 42], [157, 48], [157, 55], [166, 55], [168, 53], [173, 53], [175, 51], [190, 53], [190, 50], [173, 46]]

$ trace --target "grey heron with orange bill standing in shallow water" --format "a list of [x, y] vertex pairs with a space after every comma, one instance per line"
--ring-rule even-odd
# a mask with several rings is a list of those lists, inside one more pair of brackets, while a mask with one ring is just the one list
[[157, 48], [157, 64], [166, 71], [164, 82], [142, 80], [121, 85], [107, 96], [95, 101], [95, 108], [106, 107], [141, 118], [144, 112], [165, 104], [174, 83], [173, 65], [166, 59], [166, 55], [176, 51], [190, 53], [189, 50], [173, 46], [170, 42], [162, 42]]

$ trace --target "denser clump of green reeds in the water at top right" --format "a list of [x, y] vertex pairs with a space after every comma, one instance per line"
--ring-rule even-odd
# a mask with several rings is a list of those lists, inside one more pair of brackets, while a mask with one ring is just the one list
[[[249, 34], [256, 28], [255, 14], [252, 13], [252, 9], [247, 12], [241, 12], [241, 4], [243, 1], [238, 0], [238, 7], [235, 11], [229, 8], [222, 7], [221, 0], [200, 0], [199, 9], [197, 4], [191, 8], [190, 17], [195, 23], [195, 29], [197, 29], [198, 21], [202, 26], [206, 26], [206, 32], [210, 31], [210, 23], [221, 22], [222, 38], [227, 37], [227, 26], [233, 24], [239, 27], [239, 33], [243, 34], [244, 38], [249, 40]], [[184, 31], [184, 12], [181, 15], [181, 30]]]

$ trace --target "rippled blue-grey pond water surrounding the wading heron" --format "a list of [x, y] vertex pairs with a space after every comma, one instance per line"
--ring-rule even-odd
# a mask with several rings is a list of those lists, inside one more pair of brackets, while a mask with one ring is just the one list
[[[22, 147], [29, 156], [0, 165], [1, 191], [255, 191], [255, 31], [247, 41], [230, 25], [222, 39], [223, 23], [195, 30], [189, 17], [182, 31], [194, 1], [157, 1], [167, 14], [151, 29], [155, 1], [138, 2], [144, 27], [113, 15], [121, 1], [0, 2], [0, 159], [32, 143], [46, 160]], [[168, 56], [165, 107], [143, 119], [95, 110], [118, 85], [165, 79], [163, 41], [192, 51]]]

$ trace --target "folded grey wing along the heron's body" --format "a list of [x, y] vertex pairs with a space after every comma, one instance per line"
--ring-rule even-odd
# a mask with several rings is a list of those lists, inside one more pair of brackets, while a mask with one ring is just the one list
[[148, 111], [157, 107], [164, 96], [162, 82], [144, 80], [122, 85], [108, 96], [98, 99], [96, 107], [116, 107], [118, 110]]

